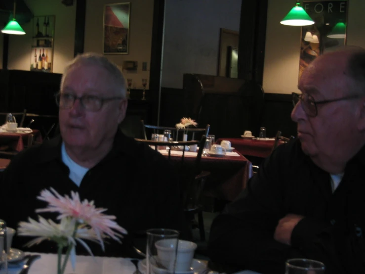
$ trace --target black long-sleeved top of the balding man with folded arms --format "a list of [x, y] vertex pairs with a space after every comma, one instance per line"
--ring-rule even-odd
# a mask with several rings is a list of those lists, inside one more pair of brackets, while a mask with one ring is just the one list
[[[211, 228], [210, 258], [230, 270], [283, 274], [288, 258], [319, 260], [326, 273], [365, 273], [365, 148], [331, 191], [330, 176], [298, 140], [279, 146]], [[291, 246], [274, 240], [286, 214], [304, 215]]]

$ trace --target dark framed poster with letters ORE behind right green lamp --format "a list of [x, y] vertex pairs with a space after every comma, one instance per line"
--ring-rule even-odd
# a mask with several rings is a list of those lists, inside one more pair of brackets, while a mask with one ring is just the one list
[[[348, 0], [303, 1], [304, 10], [315, 23], [302, 27], [299, 80], [306, 67], [318, 56], [346, 45], [347, 7]], [[342, 38], [331, 35], [337, 23], [345, 24]]]

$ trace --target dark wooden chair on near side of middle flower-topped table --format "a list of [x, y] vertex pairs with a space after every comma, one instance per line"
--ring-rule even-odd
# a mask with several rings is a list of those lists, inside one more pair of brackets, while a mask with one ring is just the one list
[[[136, 141], [150, 145], [152, 148], [158, 150], [159, 147], [166, 147], [167, 159], [175, 167], [179, 176], [180, 185], [183, 194], [183, 206], [186, 221], [191, 223], [191, 229], [199, 228], [202, 240], [205, 240], [204, 223], [203, 223], [203, 207], [200, 205], [203, 185], [206, 178], [210, 175], [209, 172], [201, 171], [200, 163], [205, 144], [205, 135], [200, 141], [153, 141], [147, 139], [138, 139]], [[185, 147], [188, 145], [199, 145], [199, 150], [194, 161], [186, 161]], [[178, 147], [182, 147], [181, 155], [173, 154]], [[198, 224], [195, 222], [195, 215], [198, 214]]]

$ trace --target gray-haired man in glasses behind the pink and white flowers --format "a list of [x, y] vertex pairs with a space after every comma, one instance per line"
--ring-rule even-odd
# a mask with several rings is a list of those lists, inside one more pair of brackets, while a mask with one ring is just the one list
[[[102, 55], [81, 54], [67, 66], [56, 95], [61, 136], [20, 153], [4, 172], [1, 219], [9, 227], [38, 219], [35, 209], [45, 204], [37, 196], [53, 187], [61, 195], [77, 191], [82, 200], [94, 200], [128, 231], [122, 245], [111, 241], [105, 253], [91, 244], [94, 254], [136, 257], [132, 245], [136, 238], [143, 242], [148, 228], [184, 235], [182, 195], [170, 163], [119, 129], [125, 93], [122, 72]], [[24, 250], [28, 240], [14, 237], [13, 246]], [[30, 250], [57, 252], [42, 244]]]

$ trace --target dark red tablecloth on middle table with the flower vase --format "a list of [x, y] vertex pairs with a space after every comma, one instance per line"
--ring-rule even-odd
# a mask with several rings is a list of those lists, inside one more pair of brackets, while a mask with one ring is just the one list
[[[166, 154], [164, 155], [167, 157]], [[181, 156], [171, 155], [172, 160], [174, 157]], [[194, 163], [195, 159], [195, 156], [185, 155], [184, 161]], [[202, 157], [201, 168], [210, 172], [203, 194], [228, 201], [233, 201], [246, 187], [248, 179], [252, 177], [252, 164], [241, 154], [240, 156]]]

